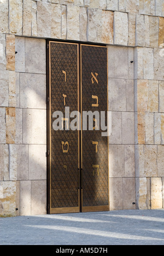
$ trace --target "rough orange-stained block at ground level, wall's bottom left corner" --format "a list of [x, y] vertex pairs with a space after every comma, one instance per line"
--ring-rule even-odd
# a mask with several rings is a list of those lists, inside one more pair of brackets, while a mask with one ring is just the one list
[[15, 217], [16, 182], [0, 182], [0, 217]]

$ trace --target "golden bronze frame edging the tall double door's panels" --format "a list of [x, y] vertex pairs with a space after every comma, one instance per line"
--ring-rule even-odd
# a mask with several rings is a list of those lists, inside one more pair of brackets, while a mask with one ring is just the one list
[[[47, 210], [48, 214], [54, 213], [71, 213], [71, 212], [92, 212], [92, 211], [109, 211], [109, 162], [108, 162], [108, 205], [103, 206], [83, 206], [83, 131], [78, 131], [78, 206], [76, 207], [55, 207], [53, 208], [51, 205], [51, 43], [57, 44], [72, 44], [77, 45], [78, 49], [78, 111], [82, 112], [82, 79], [81, 79], [81, 46], [95, 46], [95, 47], [103, 47], [99, 45], [90, 45], [90, 44], [80, 44], [80, 43], [68, 43], [68, 42], [58, 42], [47, 40], [46, 42], [46, 74], [47, 74], [47, 181], [48, 181], [48, 193], [47, 193]], [[108, 67], [107, 67], [108, 70]], [[108, 76], [107, 76], [108, 81]], [[108, 91], [108, 82], [107, 82], [107, 91]], [[108, 95], [108, 93], [107, 93]], [[108, 99], [107, 99], [108, 102]], [[89, 109], [90, 110], [90, 109]], [[108, 110], [108, 109], [107, 109]], [[82, 120], [82, 115], [81, 115]], [[82, 123], [81, 123], [82, 124]], [[108, 146], [108, 155], [109, 155], [109, 146]], [[108, 156], [109, 161], [109, 156]]]

